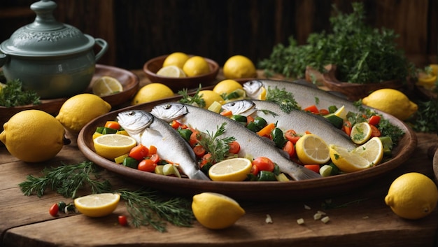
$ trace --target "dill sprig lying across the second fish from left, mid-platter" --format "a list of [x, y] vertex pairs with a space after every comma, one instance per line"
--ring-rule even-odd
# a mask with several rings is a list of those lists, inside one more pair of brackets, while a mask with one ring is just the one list
[[222, 122], [222, 125], [217, 127], [216, 132], [207, 130], [206, 133], [201, 133], [199, 143], [206, 149], [207, 153], [211, 153], [213, 163], [224, 160], [228, 155], [229, 143], [236, 140], [232, 136], [219, 139], [219, 136], [225, 132], [225, 125], [227, 125], [227, 122]]

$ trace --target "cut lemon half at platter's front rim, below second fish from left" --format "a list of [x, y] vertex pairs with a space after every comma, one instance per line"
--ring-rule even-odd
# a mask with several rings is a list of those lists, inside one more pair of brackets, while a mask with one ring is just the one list
[[209, 169], [213, 181], [244, 181], [253, 164], [246, 158], [222, 160]]

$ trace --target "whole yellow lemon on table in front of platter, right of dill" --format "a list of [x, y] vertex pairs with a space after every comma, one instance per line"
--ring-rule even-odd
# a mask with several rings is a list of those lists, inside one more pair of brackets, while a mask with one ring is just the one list
[[201, 225], [213, 230], [230, 227], [245, 215], [234, 199], [213, 192], [193, 196], [192, 211]]

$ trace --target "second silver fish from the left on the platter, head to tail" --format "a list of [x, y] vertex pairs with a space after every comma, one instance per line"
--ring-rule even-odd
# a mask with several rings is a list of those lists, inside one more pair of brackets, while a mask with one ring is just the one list
[[[181, 111], [181, 107], [187, 108], [188, 113], [179, 115], [180, 118], [178, 118], [178, 121], [194, 127], [200, 132], [216, 132], [217, 127], [222, 125], [223, 122], [226, 122], [225, 132], [222, 137], [234, 137], [236, 141], [239, 142], [241, 146], [239, 157], [244, 157], [246, 154], [253, 155], [254, 157], [269, 157], [269, 159], [278, 164], [278, 167], [280, 167], [283, 173], [288, 174], [296, 181], [321, 178], [320, 174], [289, 160], [288, 157], [284, 156], [282, 150], [272, 146], [262, 139], [262, 137], [246, 129], [246, 127], [243, 127], [243, 125], [218, 113], [175, 102], [159, 104], [153, 108], [151, 113], [157, 114], [155, 116], [160, 118], [160, 113], [167, 116], [171, 115], [169, 113], [163, 113], [164, 111], [174, 111], [175, 113], [183, 112]], [[176, 108], [176, 110], [172, 110], [172, 108]]]

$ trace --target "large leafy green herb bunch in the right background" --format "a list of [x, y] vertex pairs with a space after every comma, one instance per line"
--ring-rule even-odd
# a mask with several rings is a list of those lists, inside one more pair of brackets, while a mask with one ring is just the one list
[[351, 14], [341, 13], [333, 6], [336, 14], [330, 17], [330, 33], [310, 34], [304, 45], [298, 45], [290, 36], [288, 46], [274, 46], [270, 57], [258, 66], [268, 76], [281, 73], [288, 78], [303, 78], [306, 66], [323, 73], [324, 66], [335, 64], [338, 80], [360, 84], [416, 78], [414, 64], [397, 49], [398, 35], [391, 29], [367, 26], [363, 4], [352, 6]]

